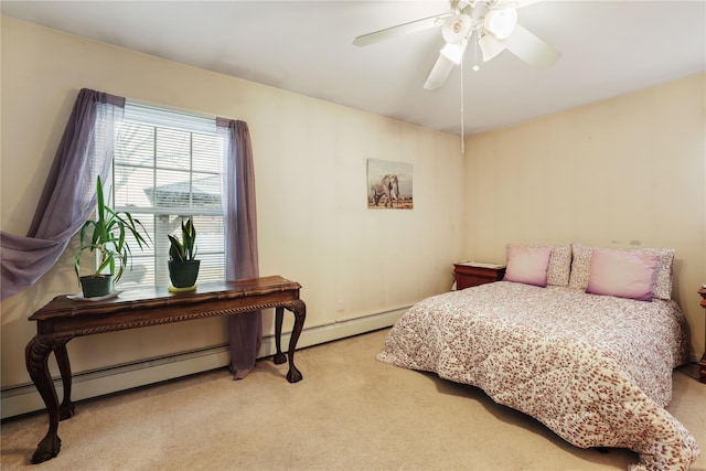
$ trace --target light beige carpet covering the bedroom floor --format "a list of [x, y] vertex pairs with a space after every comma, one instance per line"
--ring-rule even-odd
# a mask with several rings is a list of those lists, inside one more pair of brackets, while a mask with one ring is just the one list
[[[57, 458], [29, 464], [45, 414], [2, 424], [2, 470], [624, 470], [637, 454], [579, 449], [474, 387], [375, 360], [387, 330], [82, 402]], [[706, 446], [706, 385], [674, 373], [668, 407]], [[693, 469], [706, 470], [699, 457]]]

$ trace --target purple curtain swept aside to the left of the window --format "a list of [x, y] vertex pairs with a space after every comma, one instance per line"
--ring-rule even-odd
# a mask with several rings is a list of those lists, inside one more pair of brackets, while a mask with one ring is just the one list
[[26, 236], [0, 232], [1, 298], [36, 282], [96, 208], [96, 178], [108, 181], [115, 121], [125, 98], [82, 89]]

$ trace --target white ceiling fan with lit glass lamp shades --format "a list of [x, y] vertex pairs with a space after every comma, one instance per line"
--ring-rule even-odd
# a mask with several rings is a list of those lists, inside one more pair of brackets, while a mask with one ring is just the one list
[[483, 62], [510, 51], [534, 67], [547, 67], [561, 55], [554, 47], [517, 24], [517, 9], [539, 0], [452, 0], [451, 11], [409, 23], [386, 28], [355, 38], [353, 44], [366, 46], [404, 34], [441, 26], [446, 42], [424, 87], [441, 87], [454, 65], [461, 63], [470, 41], [481, 50]]

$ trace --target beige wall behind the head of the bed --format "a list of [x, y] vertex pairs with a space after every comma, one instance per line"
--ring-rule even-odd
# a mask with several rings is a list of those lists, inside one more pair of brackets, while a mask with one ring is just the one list
[[673, 297], [704, 352], [706, 76], [473, 136], [467, 257], [513, 243], [676, 249]]

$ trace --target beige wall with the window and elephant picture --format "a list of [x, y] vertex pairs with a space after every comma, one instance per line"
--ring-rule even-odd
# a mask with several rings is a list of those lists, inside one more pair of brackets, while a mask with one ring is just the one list
[[[2, 18], [1, 227], [24, 234], [78, 89], [248, 122], [260, 274], [299, 281], [307, 328], [447, 290], [463, 253], [459, 138]], [[413, 211], [366, 208], [366, 160], [414, 164]], [[71, 254], [2, 301], [2, 388], [29, 382], [28, 317], [78, 291]], [[338, 310], [339, 300], [344, 309]], [[287, 328], [287, 324], [286, 324]], [[271, 330], [271, 320], [266, 320]], [[79, 338], [74, 372], [227, 342], [223, 320]]]

